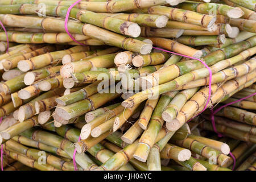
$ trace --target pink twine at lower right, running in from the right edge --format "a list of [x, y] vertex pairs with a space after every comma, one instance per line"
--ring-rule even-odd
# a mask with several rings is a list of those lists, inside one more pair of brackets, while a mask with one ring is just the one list
[[[210, 119], [212, 120], [212, 127], [213, 127], [213, 131], [215, 133], [218, 134], [218, 137], [224, 137], [223, 134], [219, 133], [216, 129], [216, 125], [215, 125], [215, 121], [214, 121], [214, 114], [218, 113], [218, 111], [220, 111], [222, 108], [226, 107], [226, 106], [229, 106], [229, 105], [232, 105], [232, 104], [235, 104], [237, 102], [240, 102], [242, 100], [245, 100], [246, 98], [249, 98], [249, 97], [252, 97], [254, 96], [256, 93], [253, 93], [251, 94], [250, 96], [246, 96], [246, 97], [243, 97], [241, 98], [240, 100], [237, 100], [237, 101], [233, 101], [233, 102], [229, 102], [228, 104], [225, 104], [223, 106], [221, 106], [220, 108], [216, 109], [215, 111], [213, 111], [213, 109], [211, 109], [211, 114], [210, 114]], [[234, 170], [235, 166], [236, 166], [236, 158], [234, 157], [234, 155], [232, 154], [232, 152], [229, 152], [229, 155], [233, 158], [233, 168], [232, 170]]]

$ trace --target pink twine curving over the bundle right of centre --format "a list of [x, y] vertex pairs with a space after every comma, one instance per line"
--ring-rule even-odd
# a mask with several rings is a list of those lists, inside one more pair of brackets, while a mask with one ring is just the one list
[[[164, 50], [164, 49], [158, 48], [158, 47], [153, 47], [153, 48], [154, 48], [154, 49], [158, 49], [158, 50], [160, 50], [160, 51], [169, 52], [169, 53], [173, 53], [173, 54], [175, 54], [175, 55], [179, 55], [179, 56], [183, 56], [183, 57], [188, 57], [188, 58], [190, 58], [190, 59], [198, 60], [198, 61], [200, 61], [200, 62], [208, 69], [208, 71], [209, 71], [209, 93], [208, 93], [207, 104], [204, 106], [204, 109], [203, 109], [199, 114], [203, 113], [203, 111], [204, 111], [205, 109], [207, 109], [207, 105], [208, 105], [208, 103], [209, 103], [209, 101], [210, 101], [210, 95], [211, 95], [211, 93], [212, 93], [212, 70], [208, 67], [207, 64], [204, 63], [204, 61], [202, 61], [202, 60], [200, 60], [200, 59], [197, 59], [197, 58], [195, 58], [195, 57], [186, 56], [186, 55], [181, 55], [180, 53], [167, 51], [167, 50]], [[199, 114], [197, 114], [197, 115], [199, 115]], [[197, 117], [197, 115], [194, 116], [193, 118]], [[189, 120], [187, 121], [187, 123], [188, 123], [189, 121], [191, 121], [193, 118], [189, 119]]]

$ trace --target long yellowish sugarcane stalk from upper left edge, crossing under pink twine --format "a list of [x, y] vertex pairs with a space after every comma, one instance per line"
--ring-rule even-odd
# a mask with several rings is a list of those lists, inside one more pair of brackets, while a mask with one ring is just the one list
[[[10, 20], [10, 16], [12, 19], [15, 19], [15, 23], [13, 20]], [[23, 21], [23, 16], [16, 15], [5, 15], [5, 18], [0, 18], [4, 24], [9, 24], [10, 26], [18, 26], [18, 27], [36, 27], [43, 28], [44, 30], [54, 30], [65, 32], [64, 20], [61, 19], [53, 19], [53, 18], [38, 18], [38, 17], [29, 17], [27, 22]], [[27, 16], [26, 16], [27, 18]], [[36, 24], [34, 22], [41, 22]], [[43, 22], [42, 22], [43, 21]], [[56, 26], [57, 25], [57, 26]], [[129, 51], [139, 52], [142, 54], [150, 53], [152, 49], [152, 45], [144, 43], [140, 40], [126, 38], [125, 36], [115, 34], [114, 32], [110, 32], [100, 27], [93, 26], [92, 24], [84, 24], [77, 22], [68, 22], [69, 32], [73, 34], [82, 34], [86, 36], [90, 36], [91, 38], [101, 40], [102, 42], [123, 49], [127, 49]]]

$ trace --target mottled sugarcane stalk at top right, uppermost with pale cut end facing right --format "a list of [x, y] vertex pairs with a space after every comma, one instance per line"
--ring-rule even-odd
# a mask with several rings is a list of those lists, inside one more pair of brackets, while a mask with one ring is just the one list
[[195, 11], [202, 14], [220, 14], [229, 18], [240, 18], [243, 16], [241, 9], [236, 9], [232, 6], [222, 5], [217, 3], [191, 3], [184, 2], [177, 6], [180, 9]]

